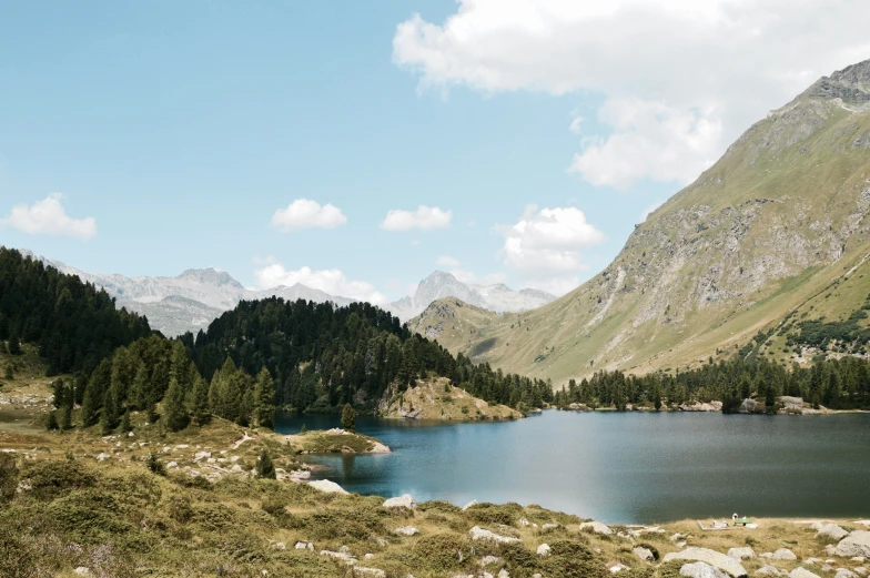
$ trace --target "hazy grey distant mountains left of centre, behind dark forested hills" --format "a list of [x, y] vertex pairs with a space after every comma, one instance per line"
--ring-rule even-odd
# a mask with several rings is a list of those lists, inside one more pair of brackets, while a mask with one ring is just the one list
[[253, 301], [272, 296], [285, 301], [306, 300], [316, 303], [332, 302], [350, 305], [354, 300], [330, 295], [296, 283], [272, 290], [245, 288], [229, 273], [215, 268], [189, 268], [175, 277], [127, 277], [118, 274], [87, 273], [60, 261], [34, 255], [22, 250], [22, 254], [39, 258], [61, 273], [78, 275], [82, 281], [102, 287], [117, 300], [119, 307], [145, 315], [151, 327], [166, 336], [196, 333], [223, 312], [235, 307], [240, 301]]

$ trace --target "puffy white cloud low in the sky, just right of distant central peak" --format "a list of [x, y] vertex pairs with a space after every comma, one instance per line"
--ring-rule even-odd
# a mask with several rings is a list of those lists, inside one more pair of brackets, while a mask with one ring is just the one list
[[515, 225], [499, 230], [505, 237], [505, 265], [529, 286], [556, 294], [578, 284], [577, 273], [588, 268], [581, 251], [604, 241], [604, 233], [573, 206], [538, 210], [530, 205]]

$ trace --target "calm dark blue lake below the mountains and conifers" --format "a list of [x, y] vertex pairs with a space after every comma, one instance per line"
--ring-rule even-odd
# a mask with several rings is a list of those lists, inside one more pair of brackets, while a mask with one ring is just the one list
[[[279, 414], [275, 429], [338, 426]], [[388, 455], [303, 456], [352, 493], [516, 501], [615, 524], [870, 516], [870, 415], [547, 410], [516, 422], [358, 417]]]

